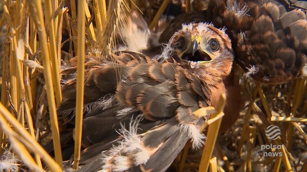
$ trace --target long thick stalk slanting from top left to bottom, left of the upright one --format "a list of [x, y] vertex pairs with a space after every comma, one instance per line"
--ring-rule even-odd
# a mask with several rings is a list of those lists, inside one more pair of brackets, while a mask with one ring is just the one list
[[44, 25], [44, 16], [43, 16], [43, 9], [41, 1], [36, 0], [28, 0], [28, 7], [30, 9], [30, 16], [35, 21], [37, 32], [40, 36], [40, 46], [43, 53], [43, 73], [45, 77], [46, 82], [46, 90], [47, 90], [47, 99], [48, 99], [48, 105], [49, 105], [49, 113], [51, 118], [51, 128], [52, 128], [52, 137], [53, 137], [53, 143], [55, 148], [55, 155], [56, 155], [56, 162], [60, 165], [60, 167], [63, 166], [62, 162], [62, 153], [61, 153], [61, 145], [59, 140], [59, 129], [58, 129], [58, 123], [57, 123], [57, 115], [56, 115], [56, 102], [54, 99], [54, 87], [52, 82], [52, 71], [50, 66], [50, 53], [49, 53], [49, 47], [47, 43], [47, 34], [46, 29]]

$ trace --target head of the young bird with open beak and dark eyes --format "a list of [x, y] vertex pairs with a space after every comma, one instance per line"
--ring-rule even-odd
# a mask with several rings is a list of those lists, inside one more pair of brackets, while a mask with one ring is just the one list
[[171, 37], [167, 50], [194, 74], [199, 77], [211, 75], [215, 79], [223, 79], [230, 74], [234, 58], [224, 29], [206, 23], [182, 25], [182, 29]]

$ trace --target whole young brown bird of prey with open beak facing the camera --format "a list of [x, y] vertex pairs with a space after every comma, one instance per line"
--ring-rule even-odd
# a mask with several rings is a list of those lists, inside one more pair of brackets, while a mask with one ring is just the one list
[[[204, 144], [200, 130], [209, 114], [193, 112], [216, 106], [225, 92], [223, 79], [233, 61], [230, 39], [213, 25], [183, 25], [157, 58], [133, 52], [86, 57], [86, 148], [79, 171], [164, 172], [189, 139], [195, 148]], [[76, 63], [70, 65], [62, 71], [58, 109], [66, 119], [75, 113]]]

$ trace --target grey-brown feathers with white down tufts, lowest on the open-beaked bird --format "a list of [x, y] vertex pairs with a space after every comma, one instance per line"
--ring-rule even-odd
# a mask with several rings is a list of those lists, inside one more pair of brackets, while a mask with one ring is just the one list
[[197, 143], [204, 137], [197, 129], [203, 121], [184, 124], [191, 125], [187, 127], [179, 124], [173, 117], [142, 133], [140, 126], [143, 127], [143, 120], [146, 121], [141, 116], [132, 118], [129, 127], [121, 125], [121, 129], [117, 131], [118, 138], [110, 137], [104, 143], [84, 149], [80, 160], [82, 166], [78, 171], [164, 172], [189, 139], [195, 142], [194, 145], [203, 144]]

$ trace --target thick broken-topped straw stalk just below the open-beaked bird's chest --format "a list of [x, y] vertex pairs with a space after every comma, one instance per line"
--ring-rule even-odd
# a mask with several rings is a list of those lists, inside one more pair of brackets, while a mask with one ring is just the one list
[[[212, 114], [212, 118], [215, 118], [219, 114], [223, 113], [223, 109], [225, 106], [225, 94], [221, 95], [221, 98], [219, 100], [218, 106], [216, 108], [217, 113]], [[206, 140], [206, 145], [202, 151], [202, 156], [199, 164], [199, 170], [198, 172], [206, 172], [209, 167], [209, 160], [211, 159], [211, 155], [213, 152], [213, 148], [219, 133], [219, 128], [222, 122], [222, 118], [217, 120], [214, 123], [211, 123], [208, 128], [208, 133], [207, 133], [207, 140]]]

